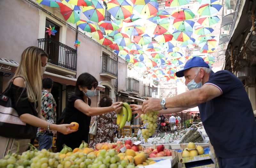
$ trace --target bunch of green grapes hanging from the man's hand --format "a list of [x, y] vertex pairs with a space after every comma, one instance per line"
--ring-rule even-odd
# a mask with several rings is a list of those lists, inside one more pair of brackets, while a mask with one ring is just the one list
[[141, 133], [143, 138], [145, 139], [145, 142], [148, 142], [149, 136], [152, 136], [156, 130], [157, 124], [156, 124], [156, 119], [157, 119], [157, 114], [158, 111], [148, 111], [146, 114], [141, 114], [140, 117], [143, 121], [143, 124], [148, 123], [146, 126], [146, 129], [142, 129]]

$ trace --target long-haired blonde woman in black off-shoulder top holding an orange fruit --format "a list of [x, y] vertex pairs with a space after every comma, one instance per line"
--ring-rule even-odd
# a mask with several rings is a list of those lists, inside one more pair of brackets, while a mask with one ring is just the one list
[[[16, 109], [20, 120], [26, 123], [26, 127], [32, 128], [30, 129], [31, 135], [29, 135], [31, 137], [36, 136], [37, 127], [56, 130], [63, 134], [77, 131], [69, 128], [73, 126], [71, 124], [49, 123], [40, 114], [41, 106], [38, 105], [41, 104], [42, 74], [45, 71], [47, 57], [47, 53], [41, 48], [34, 46], [26, 48], [21, 55], [20, 65], [9, 84], [11, 88], [8, 91], [8, 96], [11, 98], [12, 104], [15, 106], [13, 108]], [[0, 126], [0, 129], [9, 129], [8, 132], [12, 134], [13, 130], [10, 128], [1, 127], [3, 126]], [[15, 138], [17, 136], [4, 137], [0, 134], [0, 159], [8, 150], [16, 152], [18, 144], [20, 146], [19, 153], [28, 149], [30, 138], [26, 139], [28, 136], [22, 137], [22, 135]]]

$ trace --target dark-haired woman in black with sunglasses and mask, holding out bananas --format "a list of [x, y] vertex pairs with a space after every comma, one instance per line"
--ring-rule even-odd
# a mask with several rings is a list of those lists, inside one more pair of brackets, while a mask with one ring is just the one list
[[63, 123], [77, 122], [79, 128], [78, 131], [68, 136], [58, 133], [57, 151], [62, 150], [64, 143], [72, 149], [78, 148], [83, 140], [88, 143], [91, 116], [121, 110], [122, 103], [119, 102], [110, 104], [108, 107], [90, 107], [91, 99], [89, 97], [95, 95], [97, 86], [98, 81], [91, 74], [83, 73], [77, 78], [75, 94], [68, 99], [63, 113]]

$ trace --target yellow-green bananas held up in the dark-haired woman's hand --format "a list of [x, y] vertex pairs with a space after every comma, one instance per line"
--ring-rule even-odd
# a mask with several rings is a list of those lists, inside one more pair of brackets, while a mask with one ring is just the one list
[[[122, 103], [122, 102], [121, 102]], [[132, 109], [128, 103], [123, 103], [122, 109], [117, 113], [116, 124], [120, 125], [120, 129], [124, 127], [126, 121], [131, 121]]]

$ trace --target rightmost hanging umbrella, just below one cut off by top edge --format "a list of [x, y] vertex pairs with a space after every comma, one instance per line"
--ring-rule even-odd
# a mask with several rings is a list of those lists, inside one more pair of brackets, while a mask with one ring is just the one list
[[197, 13], [199, 13], [199, 15], [201, 16], [203, 15], [212, 16], [214, 13], [219, 12], [221, 8], [222, 8], [222, 5], [220, 3], [211, 3], [211, 4], [205, 3], [199, 7], [199, 9], [197, 10]]

